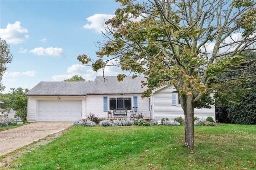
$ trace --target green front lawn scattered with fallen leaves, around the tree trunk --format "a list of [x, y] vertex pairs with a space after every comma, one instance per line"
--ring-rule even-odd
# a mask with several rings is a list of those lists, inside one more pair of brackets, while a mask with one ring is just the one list
[[[235, 170], [256, 168], [256, 126], [195, 127], [195, 149], [183, 126], [74, 127], [10, 165], [17, 169]], [[15, 167], [14, 167], [15, 169]]]

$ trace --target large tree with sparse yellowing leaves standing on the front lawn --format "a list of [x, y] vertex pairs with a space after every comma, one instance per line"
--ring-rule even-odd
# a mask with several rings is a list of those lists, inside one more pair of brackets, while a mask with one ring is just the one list
[[[184, 144], [194, 148], [194, 106], [206, 93], [224, 85], [240, 84], [256, 75], [216, 79], [229, 69], [249, 63], [240, 55], [255, 50], [256, 7], [251, 0], [116, 0], [122, 5], [105, 24], [99, 59], [79, 55], [94, 71], [116, 61], [134, 77], [144, 75], [151, 90], [174, 85], [185, 116]], [[106, 57], [108, 58], [106, 58]], [[254, 59], [255, 60], [255, 59]], [[111, 64], [109, 64], [111, 62]], [[122, 80], [126, 75], [118, 75]]]

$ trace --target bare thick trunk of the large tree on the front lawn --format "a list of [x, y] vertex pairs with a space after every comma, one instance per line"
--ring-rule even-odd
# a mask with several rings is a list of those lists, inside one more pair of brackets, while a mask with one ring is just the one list
[[184, 109], [185, 115], [185, 146], [188, 148], [194, 148], [194, 106], [193, 95], [186, 96], [186, 109]]

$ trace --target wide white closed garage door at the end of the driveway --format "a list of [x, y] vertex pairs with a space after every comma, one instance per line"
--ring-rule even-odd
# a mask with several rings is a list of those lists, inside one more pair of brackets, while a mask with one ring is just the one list
[[82, 101], [38, 101], [38, 121], [77, 121]]

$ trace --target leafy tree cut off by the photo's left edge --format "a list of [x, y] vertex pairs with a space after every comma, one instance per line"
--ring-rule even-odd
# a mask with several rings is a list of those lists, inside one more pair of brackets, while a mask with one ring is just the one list
[[2, 85], [2, 77], [8, 69], [6, 63], [10, 63], [12, 61], [12, 54], [10, 53], [9, 48], [10, 45], [0, 38], [0, 91], [3, 91], [5, 88], [4, 85]]

